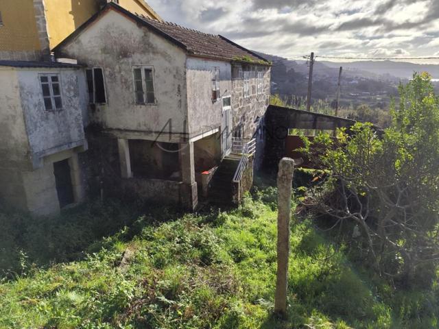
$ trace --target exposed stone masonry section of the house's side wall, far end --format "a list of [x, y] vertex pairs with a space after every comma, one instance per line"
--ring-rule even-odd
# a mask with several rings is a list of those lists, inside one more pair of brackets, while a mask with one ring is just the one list
[[[238, 65], [239, 64], [235, 64]], [[244, 125], [243, 138], [252, 138], [257, 130], [258, 123], [254, 120], [263, 117], [270, 101], [271, 70], [267, 66], [256, 66], [256, 69], [264, 69], [263, 93], [257, 93], [257, 75], [250, 78], [250, 97], [244, 97], [244, 79], [233, 79], [232, 109], [233, 127], [242, 123]]]

